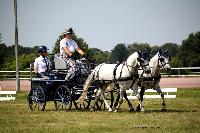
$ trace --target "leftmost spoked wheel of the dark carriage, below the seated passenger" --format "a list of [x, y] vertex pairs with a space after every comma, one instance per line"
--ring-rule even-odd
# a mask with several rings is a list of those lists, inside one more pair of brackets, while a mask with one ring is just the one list
[[46, 100], [44, 90], [41, 86], [33, 87], [28, 94], [28, 104], [32, 111], [44, 111]]

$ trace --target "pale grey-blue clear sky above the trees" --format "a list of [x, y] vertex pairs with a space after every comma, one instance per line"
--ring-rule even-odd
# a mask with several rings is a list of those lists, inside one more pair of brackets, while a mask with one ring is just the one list
[[[14, 44], [14, 0], [0, 0], [0, 33]], [[90, 48], [181, 42], [200, 31], [200, 0], [18, 0], [19, 44], [52, 50], [72, 27]]]

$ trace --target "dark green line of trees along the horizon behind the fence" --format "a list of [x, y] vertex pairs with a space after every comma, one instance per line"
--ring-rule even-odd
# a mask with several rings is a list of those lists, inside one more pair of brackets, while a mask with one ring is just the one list
[[[56, 40], [51, 53], [59, 53], [59, 43], [63, 38], [61, 34]], [[200, 66], [200, 32], [190, 33], [188, 37], [182, 41], [180, 45], [175, 43], [165, 43], [163, 45], [150, 45], [148, 43], [119, 43], [111, 51], [102, 51], [98, 48], [90, 48], [83, 38], [73, 35], [73, 39], [78, 43], [79, 47], [85, 51], [85, 58], [89, 62], [99, 63], [115, 63], [124, 61], [135, 51], [147, 51], [153, 57], [159, 49], [168, 50], [171, 56], [172, 67], [199, 67]], [[34, 47], [18, 47], [19, 49], [19, 65], [20, 70], [27, 70], [31, 62], [37, 55], [38, 46]], [[77, 58], [80, 55], [75, 54]], [[15, 70], [15, 46], [7, 46], [3, 43], [2, 35], [0, 34], [0, 70]]]

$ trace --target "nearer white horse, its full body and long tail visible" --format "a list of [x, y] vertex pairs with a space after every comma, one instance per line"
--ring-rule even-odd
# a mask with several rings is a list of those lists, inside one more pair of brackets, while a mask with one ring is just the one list
[[[111, 90], [113, 88], [120, 89], [120, 102], [118, 103], [115, 110], [117, 111], [123, 102], [124, 92], [129, 89], [130, 86], [132, 86], [136, 79], [138, 79], [138, 68], [142, 67], [143, 69], [145, 69], [145, 71], [150, 71], [150, 67], [148, 65], [149, 61], [145, 60], [142, 55], [143, 54], [140, 52], [135, 52], [120, 65], [103, 63], [96, 66], [93, 72], [86, 79], [83, 87], [82, 96], [77, 100], [77, 103], [81, 103], [84, 101], [91, 83], [93, 81], [98, 81], [100, 84], [100, 92], [99, 95], [97, 95], [96, 97], [98, 99], [99, 96], [102, 96], [103, 101], [109, 111], [112, 111], [112, 108], [106, 101], [104, 92], [108, 86]], [[117, 86], [116, 81], [118, 84]]]

